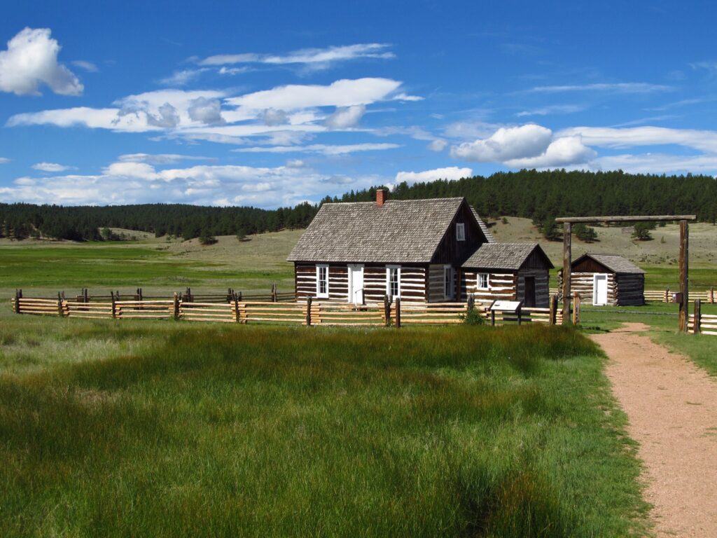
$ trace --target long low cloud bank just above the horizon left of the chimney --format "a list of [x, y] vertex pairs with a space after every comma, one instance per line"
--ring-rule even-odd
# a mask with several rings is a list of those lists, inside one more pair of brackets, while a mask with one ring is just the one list
[[327, 191], [338, 194], [347, 186], [362, 189], [384, 181], [376, 176], [319, 174], [305, 166], [202, 165], [158, 170], [147, 163], [125, 161], [112, 163], [97, 175], [20, 178], [13, 187], [0, 187], [0, 198], [67, 205], [167, 202], [277, 207], [318, 200]]

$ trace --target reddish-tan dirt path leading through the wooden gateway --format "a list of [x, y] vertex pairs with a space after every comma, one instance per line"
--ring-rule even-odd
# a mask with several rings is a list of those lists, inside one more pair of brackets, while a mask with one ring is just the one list
[[[655, 344], [643, 324], [591, 338], [645, 463], [645, 497], [660, 537], [717, 537], [717, 382]], [[717, 352], [717, 347], [716, 347]]]

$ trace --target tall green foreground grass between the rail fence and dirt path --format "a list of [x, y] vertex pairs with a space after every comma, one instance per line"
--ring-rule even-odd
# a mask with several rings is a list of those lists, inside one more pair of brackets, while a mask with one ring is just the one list
[[5, 321], [4, 537], [645, 532], [570, 329]]

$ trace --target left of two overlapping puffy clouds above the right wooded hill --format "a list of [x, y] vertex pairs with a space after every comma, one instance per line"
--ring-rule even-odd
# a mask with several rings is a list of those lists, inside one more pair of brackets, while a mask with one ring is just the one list
[[451, 156], [468, 161], [502, 162], [541, 155], [548, 148], [553, 133], [534, 124], [501, 127], [490, 137], [453, 146]]

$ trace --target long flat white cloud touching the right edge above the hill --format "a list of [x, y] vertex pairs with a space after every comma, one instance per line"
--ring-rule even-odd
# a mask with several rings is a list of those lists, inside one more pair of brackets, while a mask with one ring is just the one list
[[659, 146], [677, 144], [689, 148], [717, 153], [717, 131], [696, 129], [670, 129], [665, 127], [571, 127], [563, 129], [558, 136], [580, 135], [588, 146], [604, 148], [629, 148], [634, 146]]

